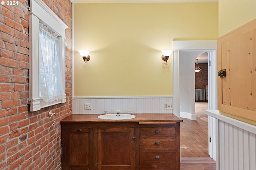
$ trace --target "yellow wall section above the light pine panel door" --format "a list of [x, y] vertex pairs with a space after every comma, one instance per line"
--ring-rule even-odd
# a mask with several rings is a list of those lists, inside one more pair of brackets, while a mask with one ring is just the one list
[[219, 37], [256, 18], [256, 0], [219, 0]]

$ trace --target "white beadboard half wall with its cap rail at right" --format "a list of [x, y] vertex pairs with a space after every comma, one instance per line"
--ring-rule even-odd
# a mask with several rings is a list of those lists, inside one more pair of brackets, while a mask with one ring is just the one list
[[218, 110], [205, 113], [216, 118], [216, 170], [256, 170], [256, 126]]

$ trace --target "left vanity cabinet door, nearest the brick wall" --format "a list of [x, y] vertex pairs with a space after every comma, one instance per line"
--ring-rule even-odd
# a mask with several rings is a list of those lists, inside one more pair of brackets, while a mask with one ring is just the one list
[[92, 137], [92, 128], [66, 128], [67, 167], [62, 169], [93, 170]]

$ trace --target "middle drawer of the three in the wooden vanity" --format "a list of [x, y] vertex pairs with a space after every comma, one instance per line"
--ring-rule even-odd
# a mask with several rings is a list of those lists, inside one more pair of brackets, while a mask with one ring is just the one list
[[175, 138], [142, 138], [139, 139], [140, 151], [144, 150], [173, 150], [176, 149]]

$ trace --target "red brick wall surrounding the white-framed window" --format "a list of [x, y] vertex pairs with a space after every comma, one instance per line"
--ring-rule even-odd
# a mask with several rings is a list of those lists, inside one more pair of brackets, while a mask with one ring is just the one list
[[[72, 8], [70, 0], [43, 0], [66, 29], [66, 103], [28, 111], [28, 0], [0, 6], [0, 169], [61, 169], [60, 119], [72, 113]], [[4, 0], [6, 2], [6, 0]], [[50, 126], [48, 112], [56, 113]]]

